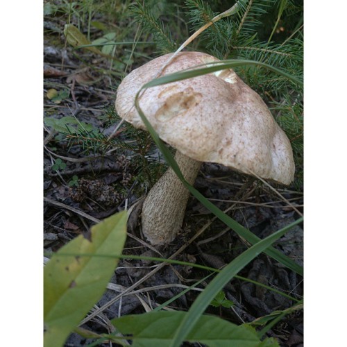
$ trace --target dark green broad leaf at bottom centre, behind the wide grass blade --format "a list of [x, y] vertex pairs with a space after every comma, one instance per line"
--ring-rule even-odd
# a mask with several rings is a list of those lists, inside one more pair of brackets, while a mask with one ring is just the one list
[[[112, 324], [123, 335], [133, 335], [133, 347], [167, 347], [171, 346], [176, 329], [186, 315], [187, 312], [180, 311], [149, 312], [113, 319]], [[261, 343], [255, 330], [208, 315], [198, 319], [185, 341], [199, 342], [209, 347], [255, 347]]]

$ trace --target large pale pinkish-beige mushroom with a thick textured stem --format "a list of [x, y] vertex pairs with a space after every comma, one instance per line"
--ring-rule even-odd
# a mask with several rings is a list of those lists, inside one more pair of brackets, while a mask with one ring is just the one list
[[[135, 94], [158, 75], [171, 54], [133, 70], [118, 87], [117, 113], [137, 128], [146, 126], [133, 107]], [[218, 59], [201, 52], [179, 53], [163, 74], [214, 61]], [[260, 96], [232, 69], [151, 87], [139, 105], [159, 137], [176, 148], [175, 160], [191, 185], [202, 162], [223, 164], [285, 185], [294, 178], [287, 135]], [[169, 168], [142, 208], [142, 232], [151, 244], [167, 244], [176, 237], [188, 198], [189, 191]]]

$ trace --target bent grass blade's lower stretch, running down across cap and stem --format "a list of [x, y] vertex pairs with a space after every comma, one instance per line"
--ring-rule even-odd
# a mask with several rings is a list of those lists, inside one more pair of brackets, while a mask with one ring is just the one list
[[[196, 71], [197, 70], [189, 71], [189, 72], [196, 72]], [[164, 76], [164, 77], [167, 77], [167, 76]], [[146, 118], [146, 116], [144, 115], [144, 112], [139, 106], [139, 93], [142, 92], [142, 90], [146, 89], [146, 87], [148, 87], [150, 83], [146, 83], [146, 85], [144, 85], [142, 89], [139, 90], [139, 92], [137, 92], [137, 95], [135, 96], [135, 107], [137, 109], [137, 112], [139, 112], [139, 116], [142, 118], [142, 121], [146, 125], [146, 128], [149, 130], [149, 133], [151, 133], [153, 140], [155, 141], [160, 151], [164, 155], [164, 158], [167, 160], [171, 168], [175, 171], [176, 175], [178, 176], [178, 178], [180, 178], [180, 180], [185, 185], [185, 187], [187, 187], [189, 192], [191, 192], [198, 199], [198, 201], [200, 201], [205, 206], [205, 208], [208, 208], [208, 210], [210, 210], [215, 216], [217, 216], [221, 221], [223, 221], [223, 223], [225, 223], [232, 230], [234, 230], [237, 233], [237, 235], [244, 237], [244, 239], [246, 239], [251, 244], [256, 244], [257, 242], [259, 242], [260, 238], [254, 235], [253, 232], [244, 228], [241, 224], [237, 223], [237, 221], [230, 218], [227, 214], [223, 213], [221, 210], [219, 210], [219, 208], [217, 208], [216, 205], [208, 201], [208, 199], [205, 198], [205, 196], [203, 196], [200, 192], [198, 192], [198, 190], [192, 187], [192, 185], [189, 185], [189, 183], [187, 183], [187, 181], [183, 177], [183, 174], [180, 171], [180, 168], [178, 167], [178, 164], [176, 163], [176, 160], [174, 160], [173, 155], [171, 155], [167, 147], [164, 145], [164, 142], [162, 142], [158, 133], [156, 133], [153, 126], [151, 126], [151, 123]], [[298, 264], [296, 264], [296, 262], [289, 259], [289, 257], [284, 255], [280, 251], [276, 250], [276, 248], [270, 247], [269, 249], [265, 251], [265, 253], [269, 255], [270, 257], [273, 257], [273, 259], [277, 260], [281, 264], [287, 266], [289, 269], [303, 276], [302, 266], [299, 266]]]

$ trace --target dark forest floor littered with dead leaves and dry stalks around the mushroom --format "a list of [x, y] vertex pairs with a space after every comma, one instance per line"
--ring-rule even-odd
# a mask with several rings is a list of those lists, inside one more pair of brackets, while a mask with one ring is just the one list
[[[58, 127], [83, 124], [99, 133], [112, 132], [115, 124], [110, 126], [105, 115], [114, 107], [115, 85], [121, 81], [121, 76], [111, 79], [104, 73], [110, 69], [106, 58], [81, 50], [76, 56], [76, 51], [65, 44], [63, 24], [45, 22], [44, 25], [55, 33], [44, 37], [44, 251], [57, 251], [77, 235], [85, 235], [98, 220], [124, 210], [126, 206], [135, 208], [128, 222], [124, 254], [172, 257], [219, 269], [246, 250], [248, 244], [245, 240], [226, 228], [193, 197], [189, 198], [183, 228], [171, 244], [153, 247], [146, 243], [139, 223], [141, 199], [146, 189], [143, 181], [137, 180], [138, 161], [121, 148], [88, 153], [85, 144], [76, 140], [74, 133], [62, 135]], [[120, 141], [124, 138], [122, 136], [119, 135]], [[203, 164], [194, 186], [261, 238], [298, 219], [296, 211], [272, 189], [219, 164]], [[290, 187], [278, 187], [278, 192], [302, 211], [303, 192]], [[301, 226], [289, 231], [275, 247], [302, 265]], [[110, 303], [85, 326], [96, 332], [108, 332], [108, 322], [115, 316], [145, 312], [207, 275], [207, 271], [188, 266], [158, 266], [158, 263], [145, 260], [122, 260], [111, 280], [118, 285], [117, 289], [108, 289], [98, 306], [110, 303], [119, 292], [130, 286], [133, 290], [143, 291]], [[239, 276], [298, 299], [303, 296], [303, 278], [264, 253], [246, 266]], [[203, 282], [196, 290], [188, 291], [170, 307], [188, 310], [199, 290], [207, 284]], [[294, 305], [284, 296], [241, 278], [232, 280], [223, 292], [234, 305], [228, 308], [210, 305], [207, 312], [237, 324]], [[268, 335], [278, 338], [282, 346], [303, 346], [302, 312], [287, 315], [273, 326]], [[73, 334], [66, 346], [86, 343], [83, 337]]]

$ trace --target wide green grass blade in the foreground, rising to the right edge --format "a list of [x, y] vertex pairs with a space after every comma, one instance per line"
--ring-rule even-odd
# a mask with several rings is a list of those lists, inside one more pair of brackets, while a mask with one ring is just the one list
[[285, 228], [282, 228], [272, 235], [269, 235], [262, 241], [257, 242], [257, 244], [248, 248], [247, 251], [244, 251], [241, 255], [236, 257], [230, 264], [228, 264], [211, 282], [206, 289], [199, 294], [192, 306], [190, 307], [187, 315], [181, 321], [178, 329], [176, 330], [174, 339], [171, 341], [171, 347], [180, 346], [187, 334], [194, 328], [194, 325], [200, 318], [201, 314], [205, 312], [206, 307], [210, 304], [213, 298], [223, 289], [223, 287], [240, 271], [246, 266], [251, 260], [253, 260], [257, 255], [262, 253], [266, 248], [268, 248], [273, 242], [276, 242], [277, 239], [285, 235], [285, 233], [291, 229], [293, 226], [296, 226], [298, 223], [301, 223], [303, 218], [298, 219], [294, 223], [290, 223]]

